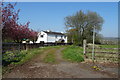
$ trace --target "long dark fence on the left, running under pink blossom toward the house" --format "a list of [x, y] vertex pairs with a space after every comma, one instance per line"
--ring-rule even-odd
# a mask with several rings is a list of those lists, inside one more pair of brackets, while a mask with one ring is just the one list
[[2, 53], [6, 51], [26, 50], [32, 48], [39, 48], [44, 46], [57, 46], [57, 45], [72, 45], [72, 43], [2, 43]]

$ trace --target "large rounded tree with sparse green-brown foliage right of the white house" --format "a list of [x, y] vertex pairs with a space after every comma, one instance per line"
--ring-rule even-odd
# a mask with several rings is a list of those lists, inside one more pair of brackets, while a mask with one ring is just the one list
[[102, 24], [103, 18], [96, 12], [91, 11], [88, 11], [86, 14], [83, 11], [79, 11], [75, 15], [65, 18], [68, 35], [71, 34], [74, 43], [79, 45], [82, 45], [83, 39], [91, 42], [93, 27], [95, 26], [97, 35], [101, 30]]

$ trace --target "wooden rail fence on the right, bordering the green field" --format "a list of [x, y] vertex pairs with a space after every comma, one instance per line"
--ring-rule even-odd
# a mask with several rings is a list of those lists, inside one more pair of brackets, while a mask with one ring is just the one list
[[[120, 55], [118, 50], [120, 50], [120, 48], [95, 48], [95, 61], [118, 63], [118, 56]], [[92, 59], [92, 48], [87, 47], [85, 53], [88, 59]]]

